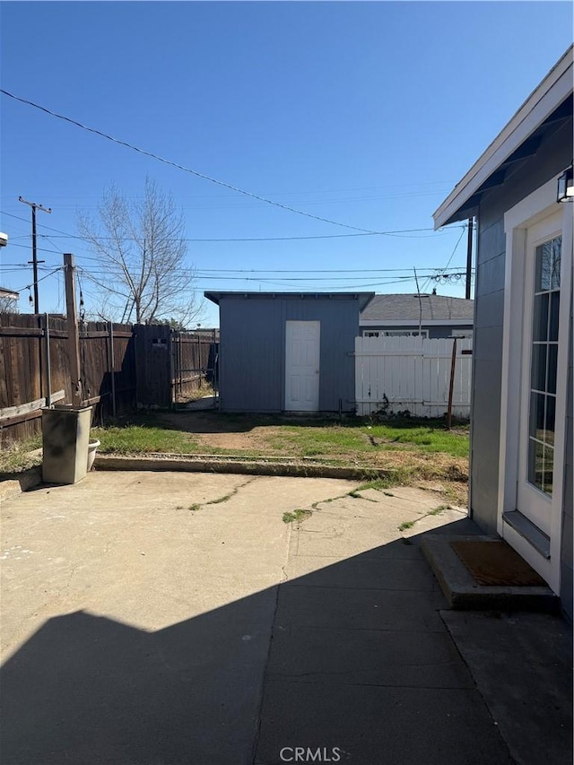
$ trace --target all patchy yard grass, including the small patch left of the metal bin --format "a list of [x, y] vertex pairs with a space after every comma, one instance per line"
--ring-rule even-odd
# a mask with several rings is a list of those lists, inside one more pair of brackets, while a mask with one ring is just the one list
[[[457, 425], [446, 430], [442, 420], [369, 422], [349, 417], [339, 422], [182, 411], [137, 414], [109, 427], [92, 428], [91, 435], [100, 439], [102, 454], [285, 456], [365, 470], [384, 468], [393, 471], [396, 482], [439, 482], [448, 500], [459, 505], [466, 501], [469, 428]], [[4, 472], [18, 469], [24, 455], [22, 447], [9, 456], [3, 452], [4, 464], [11, 465], [8, 470], [4, 466]]]

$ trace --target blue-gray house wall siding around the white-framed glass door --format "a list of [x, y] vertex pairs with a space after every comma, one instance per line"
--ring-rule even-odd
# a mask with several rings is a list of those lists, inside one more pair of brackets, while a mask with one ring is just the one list
[[[500, 385], [502, 373], [502, 324], [506, 235], [504, 213], [521, 199], [561, 172], [572, 159], [572, 120], [543, 143], [535, 156], [509, 177], [501, 187], [483, 196], [478, 212], [478, 248], [474, 295], [473, 422], [471, 428], [471, 513], [489, 533], [496, 532], [499, 448]], [[570, 335], [571, 344], [571, 335]], [[561, 565], [563, 587], [572, 589], [572, 367], [567, 432], [569, 447], [565, 465], [564, 515]], [[569, 488], [570, 487], [570, 488]], [[570, 577], [570, 579], [569, 579]], [[571, 598], [561, 593], [571, 609]], [[572, 614], [570, 613], [570, 618]]]

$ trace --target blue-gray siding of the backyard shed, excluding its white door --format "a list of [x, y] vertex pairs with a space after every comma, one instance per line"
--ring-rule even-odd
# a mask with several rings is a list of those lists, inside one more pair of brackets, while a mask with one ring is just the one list
[[319, 410], [355, 408], [359, 301], [245, 299], [220, 302], [220, 405], [225, 412], [282, 412], [287, 321], [320, 321]]

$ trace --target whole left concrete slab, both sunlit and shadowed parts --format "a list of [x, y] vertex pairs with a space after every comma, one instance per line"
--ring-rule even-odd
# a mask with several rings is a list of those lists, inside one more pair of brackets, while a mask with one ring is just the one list
[[4, 500], [3, 762], [251, 762], [283, 512], [355, 485], [91, 473]]

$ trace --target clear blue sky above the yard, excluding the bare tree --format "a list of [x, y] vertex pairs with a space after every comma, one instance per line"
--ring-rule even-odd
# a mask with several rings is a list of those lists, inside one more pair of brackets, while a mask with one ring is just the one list
[[[31, 282], [19, 195], [53, 210], [38, 213], [41, 275], [72, 251], [100, 280], [86, 244], [64, 237], [111, 182], [135, 197], [148, 176], [183, 209], [188, 239], [285, 238], [190, 241], [198, 291], [414, 291], [416, 267], [427, 291], [463, 297], [462, 281], [427, 278], [453, 252], [450, 265], [465, 265], [464, 230], [433, 233], [432, 213], [572, 41], [569, 2], [3, 2], [0, 23], [6, 91], [305, 213], [426, 229], [342, 237], [353, 230], [2, 95], [0, 282], [12, 289]], [[297, 237], [321, 239], [287, 239]], [[87, 276], [83, 291], [97, 310]], [[60, 271], [39, 284], [39, 302], [64, 309]], [[216, 326], [217, 309], [205, 309], [203, 325]]]

